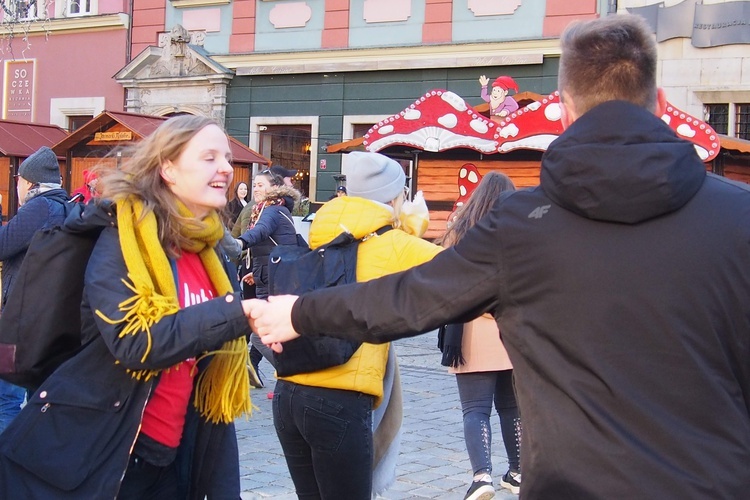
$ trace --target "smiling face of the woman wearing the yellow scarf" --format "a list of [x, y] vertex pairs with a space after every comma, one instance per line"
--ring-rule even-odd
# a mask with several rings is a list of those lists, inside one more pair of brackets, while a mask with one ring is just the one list
[[229, 140], [221, 128], [207, 125], [185, 145], [180, 156], [162, 165], [162, 178], [198, 218], [227, 203], [234, 169]]

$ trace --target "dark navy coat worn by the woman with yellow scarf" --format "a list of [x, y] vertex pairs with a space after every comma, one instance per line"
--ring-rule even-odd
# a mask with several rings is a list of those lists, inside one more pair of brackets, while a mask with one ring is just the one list
[[[142, 362], [145, 334], [120, 338], [122, 325], [111, 325], [93, 314], [100, 310], [109, 318], [120, 318], [118, 304], [132, 297], [121, 281], [126, 267], [116, 218], [103, 207], [86, 207], [85, 216], [93, 215], [93, 224], [107, 227], [86, 270], [81, 308], [85, 345], [42, 384], [2, 434], [0, 498], [115, 498], [143, 409], [158, 383], [136, 380], [126, 369], [168, 368], [250, 333], [240, 294], [218, 297], [154, 324], [151, 351]], [[66, 223], [80, 227], [82, 221]], [[232, 279], [235, 273], [229, 269], [227, 263]], [[202, 499], [206, 494], [238, 498], [234, 424], [210, 424], [193, 411], [191, 403], [177, 466], [185, 492], [182, 498]]]

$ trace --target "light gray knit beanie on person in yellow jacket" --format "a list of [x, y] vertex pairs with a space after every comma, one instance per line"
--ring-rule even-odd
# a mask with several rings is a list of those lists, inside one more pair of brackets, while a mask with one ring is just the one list
[[388, 203], [403, 192], [404, 169], [395, 160], [380, 153], [349, 153], [346, 190], [349, 196]]

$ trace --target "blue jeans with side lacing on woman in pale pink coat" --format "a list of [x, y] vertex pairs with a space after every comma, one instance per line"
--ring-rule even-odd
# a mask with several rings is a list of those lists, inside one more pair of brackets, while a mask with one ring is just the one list
[[513, 388], [513, 370], [497, 372], [457, 373], [456, 383], [464, 414], [466, 451], [474, 474], [492, 473], [492, 401], [500, 416], [508, 465], [520, 471], [521, 419], [518, 416]]

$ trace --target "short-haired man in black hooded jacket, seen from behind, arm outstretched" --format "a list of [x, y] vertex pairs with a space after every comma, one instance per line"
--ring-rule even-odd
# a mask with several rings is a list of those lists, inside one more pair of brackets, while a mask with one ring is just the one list
[[491, 311], [524, 419], [523, 498], [744, 498], [750, 189], [707, 174], [658, 118], [643, 20], [561, 42], [566, 130], [539, 187], [430, 263], [256, 304], [256, 331], [385, 342]]

